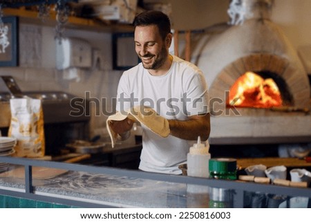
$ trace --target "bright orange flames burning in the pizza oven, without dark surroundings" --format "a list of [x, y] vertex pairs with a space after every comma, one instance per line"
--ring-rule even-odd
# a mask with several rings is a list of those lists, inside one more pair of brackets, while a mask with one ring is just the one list
[[235, 107], [270, 108], [282, 105], [281, 93], [271, 78], [246, 72], [238, 78], [229, 92], [229, 105]]

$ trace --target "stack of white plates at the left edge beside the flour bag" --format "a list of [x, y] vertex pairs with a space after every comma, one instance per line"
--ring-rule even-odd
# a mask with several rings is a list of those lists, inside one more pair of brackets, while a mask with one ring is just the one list
[[[0, 137], [0, 156], [12, 156], [15, 153], [16, 138]], [[0, 172], [8, 169], [8, 163], [0, 163]]]

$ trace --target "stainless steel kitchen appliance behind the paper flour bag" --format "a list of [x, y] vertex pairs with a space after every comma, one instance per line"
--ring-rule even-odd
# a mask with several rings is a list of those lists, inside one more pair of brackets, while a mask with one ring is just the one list
[[42, 102], [46, 155], [60, 154], [66, 143], [72, 140], [88, 140], [91, 116], [88, 115], [90, 106], [85, 98], [63, 91], [21, 92], [13, 77], [1, 78], [9, 89], [0, 92], [0, 129], [3, 136], [8, 134], [10, 127], [10, 99], [28, 96]]

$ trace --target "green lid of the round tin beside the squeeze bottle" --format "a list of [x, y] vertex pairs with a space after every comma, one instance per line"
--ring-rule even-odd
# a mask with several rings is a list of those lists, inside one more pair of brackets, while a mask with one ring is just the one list
[[227, 173], [236, 172], [236, 159], [211, 158], [209, 160], [209, 172]]

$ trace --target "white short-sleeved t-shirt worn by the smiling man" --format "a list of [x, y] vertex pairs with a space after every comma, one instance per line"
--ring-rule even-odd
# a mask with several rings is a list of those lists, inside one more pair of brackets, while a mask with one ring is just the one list
[[[208, 113], [209, 95], [202, 71], [173, 56], [165, 75], [153, 76], [142, 64], [125, 71], [117, 89], [117, 111], [134, 106], [151, 107], [167, 119], [188, 120], [189, 115]], [[142, 126], [140, 167], [147, 172], [181, 174], [189, 142], [174, 136], [162, 138]]]

